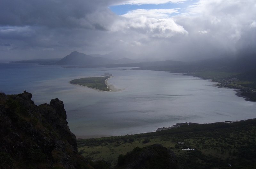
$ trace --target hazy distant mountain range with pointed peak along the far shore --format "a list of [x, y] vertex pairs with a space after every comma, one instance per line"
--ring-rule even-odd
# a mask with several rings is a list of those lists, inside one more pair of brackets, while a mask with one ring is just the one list
[[[197, 71], [222, 71], [222, 72], [252, 72], [255, 70], [255, 55], [241, 55], [237, 58], [212, 58], [194, 62], [181, 62], [173, 60], [145, 61], [133, 60], [123, 56], [131, 56], [134, 53], [122, 51], [105, 55], [87, 55], [72, 52], [62, 59], [22, 60], [20, 63], [41, 63], [44, 65], [62, 65], [72, 67], [139, 67], [139, 69], [170, 71], [188, 73]], [[123, 58], [122, 58], [123, 57]], [[120, 59], [112, 59], [120, 58]]]

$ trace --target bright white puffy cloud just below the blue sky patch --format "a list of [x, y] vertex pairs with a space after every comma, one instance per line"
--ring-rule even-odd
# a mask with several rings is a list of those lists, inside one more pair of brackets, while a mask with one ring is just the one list
[[113, 31], [136, 31], [149, 37], [170, 38], [176, 34], [188, 32], [169, 17], [169, 14], [177, 12], [171, 10], [135, 10], [122, 15], [122, 19], [113, 25]]

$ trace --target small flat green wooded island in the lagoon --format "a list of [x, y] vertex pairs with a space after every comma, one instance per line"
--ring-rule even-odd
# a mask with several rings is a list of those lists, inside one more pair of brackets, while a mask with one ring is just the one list
[[95, 88], [102, 91], [109, 91], [108, 86], [105, 84], [105, 80], [111, 76], [104, 77], [86, 77], [81, 79], [75, 79], [70, 81], [72, 84], [82, 85], [90, 88]]

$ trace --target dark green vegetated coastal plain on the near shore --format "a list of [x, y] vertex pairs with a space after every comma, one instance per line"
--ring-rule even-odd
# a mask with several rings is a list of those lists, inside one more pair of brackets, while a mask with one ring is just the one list
[[[104, 160], [112, 167], [135, 147], [161, 144], [174, 152], [182, 168], [228, 168], [229, 164], [233, 168], [256, 168], [255, 133], [256, 119], [252, 119], [235, 123], [181, 125], [118, 137], [78, 139], [77, 144], [85, 158]], [[195, 150], [182, 150], [187, 148]]]

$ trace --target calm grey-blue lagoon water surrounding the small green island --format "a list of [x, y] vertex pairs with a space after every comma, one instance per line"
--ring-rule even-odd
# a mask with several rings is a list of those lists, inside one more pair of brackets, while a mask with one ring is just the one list
[[[124, 70], [127, 69], [127, 70]], [[175, 123], [212, 123], [256, 118], [256, 102], [233, 89], [197, 77], [129, 68], [79, 68], [0, 63], [0, 90], [33, 94], [39, 105], [59, 98], [77, 136], [143, 133]], [[69, 81], [113, 74], [108, 84], [120, 91], [101, 92]]]

